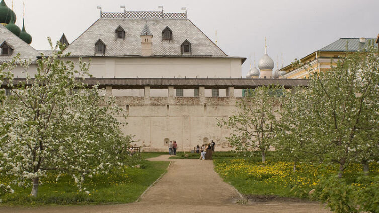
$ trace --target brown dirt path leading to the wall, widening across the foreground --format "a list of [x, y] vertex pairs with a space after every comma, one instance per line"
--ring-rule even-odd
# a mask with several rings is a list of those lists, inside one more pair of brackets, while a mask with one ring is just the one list
[[[161, 155], [149, 160], [168, 160]], [[173, 160], [168, 172], [141, 197], [139, 202], [120, 205], [0, 207], [0, 212], [329, 212], [314, 202], [265, 202], [233, 204], [238, 192], [214, 171], [212, 161]]]

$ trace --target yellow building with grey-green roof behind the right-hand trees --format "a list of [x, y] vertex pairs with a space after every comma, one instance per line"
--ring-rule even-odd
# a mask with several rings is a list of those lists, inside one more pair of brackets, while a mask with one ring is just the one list
[[[377, 39], [376, 39], [377, 40]], [[281, 70], [286, 73], [285, 78], [308, 78], [309, 71], [327, 71], [330, 69], [331, 60], [338, 60], [338, 56], [348, 52], [357, 52], [366, 49], [369, 45], [374, 44], [373, 38], [341, 38], [300, 59], [302, 63], [309, 64], [305, 68], [294, 67], [292, 64], [283, 67]], [[308, 70], [308, 71], [307, 71]]]

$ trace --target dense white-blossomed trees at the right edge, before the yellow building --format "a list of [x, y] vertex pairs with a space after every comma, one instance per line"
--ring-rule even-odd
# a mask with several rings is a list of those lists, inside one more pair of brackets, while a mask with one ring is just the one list
[[277, 147], [297, 158], [338, 163], [340, 177], [352, 162], [378, 160], [378, 68], [371, 50], [346, 53], [326, 72], [309, 70], [308, 87], [283, 105]]

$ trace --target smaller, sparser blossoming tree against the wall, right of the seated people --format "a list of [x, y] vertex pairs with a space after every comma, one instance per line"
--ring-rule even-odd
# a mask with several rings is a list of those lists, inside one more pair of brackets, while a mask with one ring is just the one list
[[245, 98], [236, 102], [238, 112], [227, 119], [220, 119], [219, 127], [227, 127], [233, 134], [226, 139], [238, 152], [261, 151], [262, 162], [275, 137], [283, 88], [278, 86], [259, 87], [248, 90]]

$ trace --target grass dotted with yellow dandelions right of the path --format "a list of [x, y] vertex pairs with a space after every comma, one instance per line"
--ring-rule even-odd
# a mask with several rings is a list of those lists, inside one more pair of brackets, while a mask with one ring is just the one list
[[[336, 174], [337, 165], [298, 164], [293, 172], [293, 163], [283, 161], [257, 162], [251, 159], [216, 159], [216, 171], [245, 195], [277, 195], [284, 197], [308, 197], [308, 192], [319, 183], [319, 176]], [[379, 164], [370, 164], [371, 175], [379, 173]], [[346, 168], [344, 178], [355, 184], [360, 164]], [[296, 186], [296, 187], [295, 187]]]

